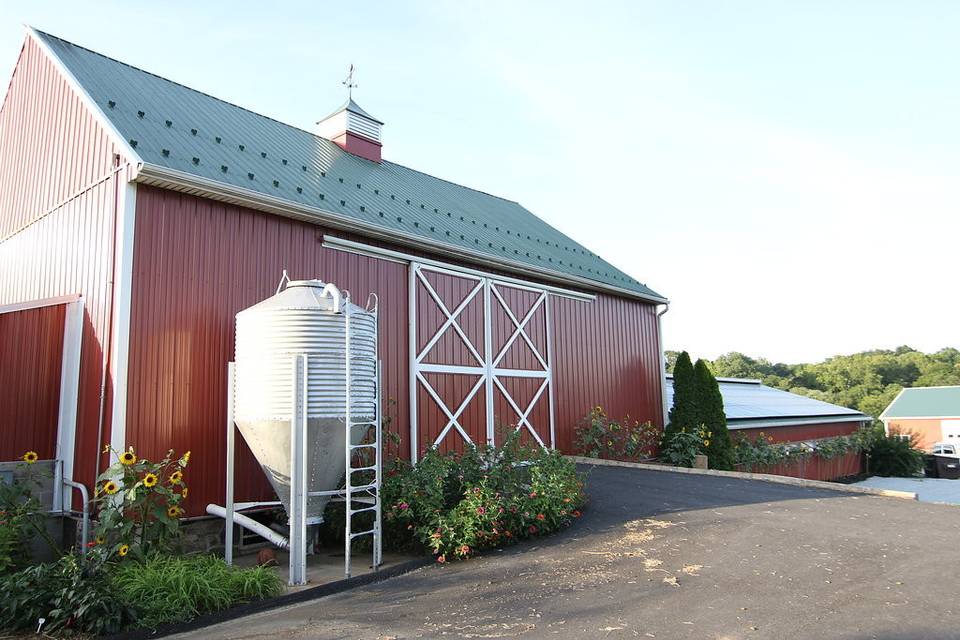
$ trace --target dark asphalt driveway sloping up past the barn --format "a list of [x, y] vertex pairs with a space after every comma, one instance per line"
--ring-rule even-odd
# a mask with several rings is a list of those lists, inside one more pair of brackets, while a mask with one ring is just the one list
[[960, 637], [956, 507], [589, 473], [590, 507], [561, 535], [189, 637]]

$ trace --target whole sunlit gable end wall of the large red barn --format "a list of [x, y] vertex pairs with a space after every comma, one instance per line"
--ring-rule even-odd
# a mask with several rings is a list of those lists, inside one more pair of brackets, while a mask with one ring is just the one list
[[28, 39], [0, 114], [0, 304], [84, 297], [75, 477], [88, 484], [100, 449], [102, 341], [109, 322], [117, 187], [113, 179], [85, 187], [110, 175], [114, 151]]

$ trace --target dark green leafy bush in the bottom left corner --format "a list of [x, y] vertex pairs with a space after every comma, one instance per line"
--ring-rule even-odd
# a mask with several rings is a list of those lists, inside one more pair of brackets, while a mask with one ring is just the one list
[[108, 565], [74, 555], [0, 576], [0, 629], [116, 633], [134, 620], [129, 602], [113, 593]]

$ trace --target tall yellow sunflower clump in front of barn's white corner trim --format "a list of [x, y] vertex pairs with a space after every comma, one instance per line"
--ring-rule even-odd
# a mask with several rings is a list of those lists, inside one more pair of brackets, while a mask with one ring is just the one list
[[180, 504], [188, 489], [183, 471], [190, 452], [180, 458], [173, 450], [160, 462], [137, 458], [133, 447], [116, 452], [117, 462], [97, 478], [100, 507], [93, 552], [138, 558], [167, 551], [180, 531]]

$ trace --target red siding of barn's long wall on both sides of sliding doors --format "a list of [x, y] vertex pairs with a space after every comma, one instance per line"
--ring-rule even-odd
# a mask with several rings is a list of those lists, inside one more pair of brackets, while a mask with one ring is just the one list
[[[223, 500], [226, 364], [234, 315], [276, 290], [283, 269], [319, 277], [354, 299], [380, 296], [380, 346], [390, 429], [409, 455], [408, 267], [324, 249], [324, 229], [151, 187], [137, 192], [127, 441], [147, 456], [192, 450], [189, 510]], [[342, 234], [340, 234], [342, 235]], [[602, 404], [615, 415], [660, 423], [654, 308], [599, 296], [551, 297], [558, 445]], [[536, 336], [535, 339], [545, 339]], [[465, 392], [464, 392], [465, 393]], [[240, 499], [270, 490], [244, 451]]]

